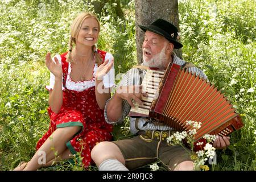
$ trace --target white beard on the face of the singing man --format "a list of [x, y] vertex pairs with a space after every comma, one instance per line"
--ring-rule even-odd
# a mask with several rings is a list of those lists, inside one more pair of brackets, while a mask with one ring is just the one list
[[145, 61], [143, 53], [143, 65], [151, 68], [166, 69], [165, 65], [167, 63], [167, 56], [164, 53], [165, 47], [157, 55], [153, 56], [150, 60]]

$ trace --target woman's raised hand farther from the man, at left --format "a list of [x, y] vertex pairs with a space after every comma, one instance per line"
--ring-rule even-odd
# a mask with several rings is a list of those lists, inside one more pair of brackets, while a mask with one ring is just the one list
[[47, 53], [46, 55], [46, 66], [49, 69], [50, 72], [55, 76], [55, 78], [62, 78], [62, 68], [61, 64], [59, 63], [59, 60], [54, 57], [54, 61], [51, 59], [51, 53]]

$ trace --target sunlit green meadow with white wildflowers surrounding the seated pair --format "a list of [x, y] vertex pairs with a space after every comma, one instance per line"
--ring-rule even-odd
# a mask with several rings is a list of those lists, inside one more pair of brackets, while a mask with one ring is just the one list
[[[230, 135], [226, 150], [217, 151], [217, 163], [209, 165], [210, 170], [256, 169], [255, 3], [179, 1], [183, 60], [206, 73], [245, 124]], [[97, 44], [113, 54], [115, 74], [137, 64], [134, 1], [121, 1], [121, 5], [123, 19], [115, 14], [114, 3], [104, 6]], [[81, 11], [93, 11], [93, 7], [78, 0], [5, 0], [0, 2], [0, 10], [0, 170], [10, 170], [34, 155], [36, 142], [48, 129], [46, 53], [67, 51], [72, 20]], [[128, 122], [115, 126], [114, 139], [130, 135]], [[82, 170], [79, 163], [48, 169]], [[90, 169], [97, 170], [93, 166]]]

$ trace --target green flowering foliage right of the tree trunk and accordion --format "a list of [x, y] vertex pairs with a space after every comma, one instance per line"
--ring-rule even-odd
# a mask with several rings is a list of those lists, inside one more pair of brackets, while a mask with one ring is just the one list
[[179, 1], [183, 59], [207, 74], [245, 126], [217, 153], [216, 170], [255, 170], [255, 1]]

